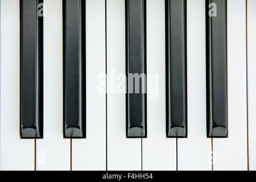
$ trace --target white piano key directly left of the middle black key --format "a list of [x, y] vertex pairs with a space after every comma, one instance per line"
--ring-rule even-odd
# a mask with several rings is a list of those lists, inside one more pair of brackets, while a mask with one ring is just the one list
[[108, 0], [106, 7], [108, 170], [141, 170], [141, 139], [126, 138], [125, 1]]

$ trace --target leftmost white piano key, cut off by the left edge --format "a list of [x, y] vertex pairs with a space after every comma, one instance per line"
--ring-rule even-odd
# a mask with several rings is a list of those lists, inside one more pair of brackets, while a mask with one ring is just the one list
[[35, 141], [20, 139], [19, 0], [1, 1], [1, 131], [0, 169], [34, 170]]

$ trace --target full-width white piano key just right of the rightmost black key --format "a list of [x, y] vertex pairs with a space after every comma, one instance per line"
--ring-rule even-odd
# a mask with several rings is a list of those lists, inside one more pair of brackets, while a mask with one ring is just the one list
[[247, 170], [246, 1], [227, 1], [228, 138], [213, 139], [213, 170]]

